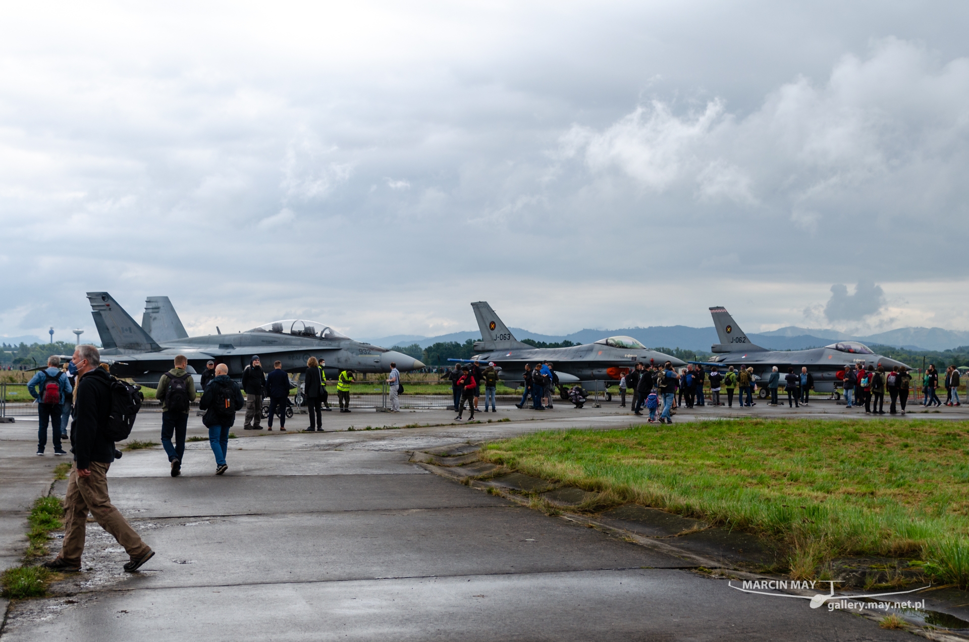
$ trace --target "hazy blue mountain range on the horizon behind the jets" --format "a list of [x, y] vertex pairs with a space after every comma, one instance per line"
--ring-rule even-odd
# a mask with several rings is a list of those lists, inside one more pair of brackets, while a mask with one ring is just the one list
[[[571, 335], [539, 335], [522, 328], [511, 328], [516, 338], [532, 338], [536, 341], [557, 342], [568, 339], [575, 343], [591, 343], [604, 337], [625, 335], [634, 337], [647, 347], [683, 348], [708, 352], [710, 345], [717, 342], [717, 333], [709, 328], [690, 328], [689, 326], [652, 326], [649, 328], [620, 328], [618, 330], [579, 330]], [[837, 330], [798, 328], [788, 326], [766, 333], [748, 334], [755, 344], [771, 350], [803, 350], [815, 348], [839, 340], [852, 339], [862, 343], [891, 345], [908, 350], [948, 350], [960, 345], [969, 345], [969, 332], [943, 330], [942, 328], [899, 328], [866, 337], [848, 335]], [[478, 331], [456, 332], [438, 337], [420, 335], [392, 335], [391, 337], [368, 338], [375, 345], [419, 344], [422, 348], [443, 341], [463, 343], [469, 338], [478, 340]]]

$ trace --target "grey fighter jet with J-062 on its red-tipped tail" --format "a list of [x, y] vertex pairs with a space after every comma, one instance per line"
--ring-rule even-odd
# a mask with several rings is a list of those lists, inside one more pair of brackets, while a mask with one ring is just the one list
[[[799, 374], [800, 369], [806, 366], [807, 371], [814, 377], [815, 392], [831, 393], [840, 399], [841, 393], [837, 388], [844, 379], [846, 366], [884, 366], [887, 370], [891, 370], [893, 366], [905, 366], [900, 361], [875, 354], [867, 345], [858, 341], [838, 341], [823, 348], [809, 350], [767, 350], [750, 342], [727, 308], [722, 305], [711, 307], [710, 315], [720, 342], [710, 346], [710, 351], [717, 354], [708, 362], [692, 362], [704, 369], [717, 366], [724, 371], [729, 366], [753, 367], [755, 376], [766, 379], [771, 369], [776, 366], [781, 373], [783, 385], [784, 375], [789, 368], [794, 368]], [[761, 399], [766, 398], [765, 388], [761, 389], [760, 396]]]

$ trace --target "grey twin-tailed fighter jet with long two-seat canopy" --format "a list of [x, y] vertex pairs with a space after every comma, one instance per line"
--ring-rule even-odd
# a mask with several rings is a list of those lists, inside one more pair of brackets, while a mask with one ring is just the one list
[[[272, 369], [273, 362], [281, 361], [283, 369], [289, 372], [304, 370], [311, 356], [326, 359], [328, 378], [335, 378], [341, 369], [390, 372], [391, 361], [401, 371], [424, 367], [414, 357], [344, 337], [317, 321], [286, 319], [235, 335], [219, 332], [189, 337], [168, 297], [145, 300], [142, 326], [107, 292], [88, 292], [87, 299], [101, 337], [101, 358], [109, 364], [111, 374], [131, 378], [149, 388], [155, 387], [162, 373], [172, 368], [176, 354], [188, 358], [190, 372], [202, 372], [205, 362], [211, 359], [216, 364], [226, 364], [234, 378], [242, 376], [253, 355], [259, 355], [266, 370]], [[157, 339], [149, 333], [157, 334]]]

